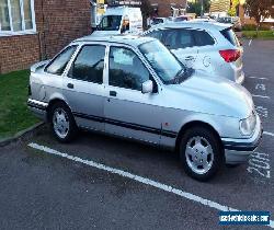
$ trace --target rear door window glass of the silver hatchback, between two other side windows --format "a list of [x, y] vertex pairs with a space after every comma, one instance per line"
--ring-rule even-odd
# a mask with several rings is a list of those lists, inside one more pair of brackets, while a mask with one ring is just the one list
[[105, 46], [83, 46], [71, 66], [68, 77], [93, 82], [103, 83]]

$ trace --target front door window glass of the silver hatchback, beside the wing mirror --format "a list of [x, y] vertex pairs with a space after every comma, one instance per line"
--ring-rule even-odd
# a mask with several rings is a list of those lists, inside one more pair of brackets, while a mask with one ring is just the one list
[[133, 50], [111, 47], [109, 79], [110, 85], [141, 91], [149, 71]]

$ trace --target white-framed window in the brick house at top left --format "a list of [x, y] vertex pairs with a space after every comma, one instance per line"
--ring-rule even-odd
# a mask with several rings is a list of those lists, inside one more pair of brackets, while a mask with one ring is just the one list
[[34, 0], [0, 1], [0, 35], [35, 31]]

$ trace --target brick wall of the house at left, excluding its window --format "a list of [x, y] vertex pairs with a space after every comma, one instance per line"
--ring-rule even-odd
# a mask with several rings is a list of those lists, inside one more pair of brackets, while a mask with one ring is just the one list
[[0, 73], [52, 58], [71, 41], [91, 33], [89, 0], [35, 0], [34, 35], [0, 36]]

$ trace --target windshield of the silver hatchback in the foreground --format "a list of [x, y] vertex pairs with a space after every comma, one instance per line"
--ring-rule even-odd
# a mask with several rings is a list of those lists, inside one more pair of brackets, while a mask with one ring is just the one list
[[139, 49], [163, 83], [180, 83], [185, 79], [184, 66], [159, 41], [145, 43]]

